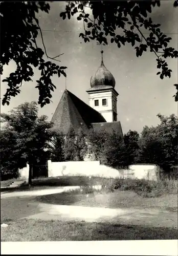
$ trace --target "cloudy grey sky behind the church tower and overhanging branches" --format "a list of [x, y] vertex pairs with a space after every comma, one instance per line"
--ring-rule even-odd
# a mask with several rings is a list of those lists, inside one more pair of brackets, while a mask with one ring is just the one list
[[[48, 55], [60, 56], [59, 66], [66, 66], [67, 78], [54, 76], [52, 81], [56, 90], [52, 93], [50, 104], [40, 108], [39, 115], [47, 115], [51, 120], [57, 108], [63, 91], [66, 89], [88, 104], [86, 90], [90, 88], [90, 78], [95, 74], [101, 63], [101, 47], [96, 41], [84, 43], [79, 37], [83, 32], [83, 25], [77, 20], [77, 16], [70, 20], [59, 16], [65, 9], [65, 2], [50, 3], [49, 14], [40, 12], [39, 24], [42, 29], [44, 44]], [[160, 8], [154, 8], [150, 15], [153, 22], [161, 24], [161, 30], [172, 38], [170, 47], [177, 50], [178, 47], [178, 8], [173, 8], [173, 1], [161, 1]], [[42, 48], [40, 36], [37, 38], [38, 47]], [[172, 70], [171, 78], [163, 80], [157, 74], [157, 61], [154, 53], [146, 52], [141, 57], [136, 57], [136, 51], [129, 44], [121, 46], [116, 44], [103, 47], [104, 65], [114, 75], [116, 80], [115, 89], [119, 93], [117, 110], [118, 120], [121, 122], [123, 133], [135, 130], [139, 133], [144, 125], [155, 126], [159, 123], [158, 113], [162, 115], [177, 115], [177, 102], [172, 97], [175, 94], [174, 83], [178, 81], [177, 59], [167, 59], [168, 66]], [[1, 98], [6, 92], [7, 85], [2, 80], [7, 77], [16, 67], [10, 62], [4, 68], [1, 76]], [[21, 93], [12, 97], [9, 106], [2, 105], [1, 113], [7, 113], [25, 101], [37, 101], [38, 90], [35, 89], [39, 71], [34, 70], [32, 82], [24, 82]]]

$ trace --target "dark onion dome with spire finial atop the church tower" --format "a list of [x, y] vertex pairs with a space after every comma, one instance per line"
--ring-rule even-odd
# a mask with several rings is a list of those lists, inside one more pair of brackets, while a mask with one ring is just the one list
[[112, 86], [115, 87], [116, 81], [112, 73], [110, 73], [103, 63], [103, 51], [101, 51], [102, 58], [101, 58], [101, 65], [98, 68], [97, 72], [94, 76], [91, 77], [90, 85], [91, 88], [97, 86]]

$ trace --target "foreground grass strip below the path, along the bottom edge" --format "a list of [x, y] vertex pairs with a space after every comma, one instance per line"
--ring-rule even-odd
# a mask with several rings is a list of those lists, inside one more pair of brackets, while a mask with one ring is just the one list
[[1, 242], [177, 239], [177, 230], [83, 221], [7, 220]]

